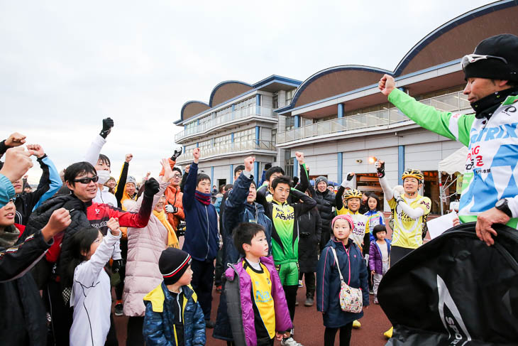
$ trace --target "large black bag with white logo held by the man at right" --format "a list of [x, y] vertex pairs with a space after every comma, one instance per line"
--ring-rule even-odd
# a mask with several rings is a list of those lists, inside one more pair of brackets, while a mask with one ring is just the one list
[[394, 326], [386, 345], [517, 345], [518, 231], [493, 227], [498, 236], [491, 247], [470, 222], [387, 271], [378, 288]]

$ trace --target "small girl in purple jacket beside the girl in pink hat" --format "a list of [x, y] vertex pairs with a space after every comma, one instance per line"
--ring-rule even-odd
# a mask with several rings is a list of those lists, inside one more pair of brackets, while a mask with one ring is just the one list
[[387, 237], [385, 225], [376, 225], [373, 229], [375, 242], [370, 243], [369, 249], [369, 269], [373, 274], [374, 303], [378, 304], [378, 286], [385, 275], [389, 264], [390, 240]]

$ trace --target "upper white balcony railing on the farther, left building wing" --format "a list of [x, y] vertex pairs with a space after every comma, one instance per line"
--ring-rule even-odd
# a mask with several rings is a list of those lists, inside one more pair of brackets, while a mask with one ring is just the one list
[[193, 126], [189, 129], [184, 129], [175, 135], [175, 141], [180, 141], [181, 139], [184, 139], [184, 137], [192, 136], [194, 134], [203, 134], [204, 132], [215, 129], [216, 127], [221, 127], [225, 124], [231, 124], [236, 120], [254, 116], [266, 117], [272, 120], [277, 119], [277, 113], [274, 113], [271, 108], [253, 105], [251, 107], [236, 109], [206, 121], [203, 124]]

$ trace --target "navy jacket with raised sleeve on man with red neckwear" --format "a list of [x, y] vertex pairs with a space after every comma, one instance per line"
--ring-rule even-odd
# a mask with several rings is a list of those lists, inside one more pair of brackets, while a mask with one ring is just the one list
[[182, 250], [197, 261], [206, 261], [215, 259], [219, 250], [218, 214], [214, 205], [196, 199], [197, 175], [198, 164], [192, 163], [182, 196], [187, 223]]

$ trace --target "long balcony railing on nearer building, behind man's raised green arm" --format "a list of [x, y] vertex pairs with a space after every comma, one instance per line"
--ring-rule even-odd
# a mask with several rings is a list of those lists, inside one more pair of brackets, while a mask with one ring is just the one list
[[[429, 99], [423, 99], [420, 102], [446, 112], [459, 111], [470, 107], [468, 97], [462, 92], [453, 92], [451, 94], [431, 97]], [[277, 134], [277, 145], [326, 134], [338, 134], [340, 132], [367, 129], [374, 126], [397, 124], [398, 122], [407, 120], [408, 118], [399, 112], [397, 108], [382, 109], [376, 112], [321, 121], [280, 132]]]

